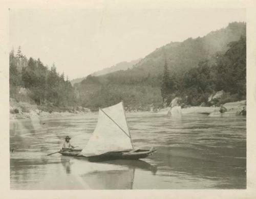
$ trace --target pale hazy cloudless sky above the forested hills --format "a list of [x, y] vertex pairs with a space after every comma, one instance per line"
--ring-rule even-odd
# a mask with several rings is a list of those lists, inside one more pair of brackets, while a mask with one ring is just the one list
[[246, 21], [245, 9], [11, 10], [10, 49], [74, 79], [232, 21]]

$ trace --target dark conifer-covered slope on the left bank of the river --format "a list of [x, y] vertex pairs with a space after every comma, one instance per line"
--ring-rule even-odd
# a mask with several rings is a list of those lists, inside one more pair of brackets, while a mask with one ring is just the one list
[[65, 74], [58, 74], [40, 59], [27, 59], [20, 47], [10, 52], [10, 98], [18, 102], [36, 104], [41, 109], [67, 109], [78, 102], [75, 91]]

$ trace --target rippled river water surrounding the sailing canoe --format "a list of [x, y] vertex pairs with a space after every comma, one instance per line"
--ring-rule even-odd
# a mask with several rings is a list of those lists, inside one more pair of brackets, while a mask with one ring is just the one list
[[246, 188], [246, 117], [126, 116], [135, 148], [157, 149], [147, 159], [94, 163], [47, 156], [67, 135], [83, 148], [97, 114], [11, 120], [11, 189]]

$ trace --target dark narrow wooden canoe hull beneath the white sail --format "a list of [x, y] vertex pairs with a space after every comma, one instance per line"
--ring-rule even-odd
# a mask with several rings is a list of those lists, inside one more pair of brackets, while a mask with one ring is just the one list
[[59, 153], [63, 156], [81, 157], [81, 158], [87, 158], [89, 159], [89, 161], [99, 162], [99, 161], [118, 160], [118, 159], [125, 159], [125, 160], [143, 159], [155, 153], [156, 150], [152, 148], [151, 150], [108, 152], [98, 156], [90, 156], [90, 157], [82, 156], [80, 155], [80, 152], [81, 150], [70, 150], [68, 152], [59, 152]]

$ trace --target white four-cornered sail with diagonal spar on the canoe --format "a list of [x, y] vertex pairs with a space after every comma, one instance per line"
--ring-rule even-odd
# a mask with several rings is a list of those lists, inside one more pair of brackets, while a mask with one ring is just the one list
[[131, 135], [122, 102], [99, 109], [97, 126], [81, 155], [90, 157], [106, 152], [132, 149]]

